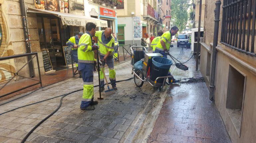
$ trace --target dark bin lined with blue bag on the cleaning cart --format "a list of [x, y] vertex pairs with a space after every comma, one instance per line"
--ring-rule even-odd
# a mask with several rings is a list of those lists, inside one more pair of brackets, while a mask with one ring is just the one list
[[[154, 57], [152, 59], [152, 68], [150, 73], [150, 79], [155, 81], [158, 77], [167, 76], [173, 62], [170, 59], [164, 57]], [[164, 79], [157, 80], [157, 83], [163, 83]]]

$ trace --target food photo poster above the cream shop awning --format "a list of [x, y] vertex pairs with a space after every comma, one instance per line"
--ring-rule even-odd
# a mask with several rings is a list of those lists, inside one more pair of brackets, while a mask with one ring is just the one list
[[36, 4], [37, 9], [55, 12], [68, 13], [68, 0], [40, 0], [41, 4]]

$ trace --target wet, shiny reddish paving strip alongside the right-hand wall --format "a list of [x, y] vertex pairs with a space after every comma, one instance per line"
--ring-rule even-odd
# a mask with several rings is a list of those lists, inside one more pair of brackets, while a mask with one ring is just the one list
[[[171, 50], [182, 62], [190, 52], [181, 47]], [[193, 58], [186, 65], [188, 71], [172, 66], [176, 79], [201, 77]], [[231, 143], [205, 83], [174, 84], [168, 92], [148, 143]]]

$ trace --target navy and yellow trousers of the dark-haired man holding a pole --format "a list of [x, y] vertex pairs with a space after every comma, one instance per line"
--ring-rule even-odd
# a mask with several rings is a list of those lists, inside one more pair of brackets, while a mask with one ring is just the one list
[[94, 90], [93, 90], [93, 70], [94, 64], [86, 64], [85, 68], [81, 70], [83, 79], [83, 95], [81, 100], [81, 108], [86, 108], [90, 106], [91, 101], [93, 101]]

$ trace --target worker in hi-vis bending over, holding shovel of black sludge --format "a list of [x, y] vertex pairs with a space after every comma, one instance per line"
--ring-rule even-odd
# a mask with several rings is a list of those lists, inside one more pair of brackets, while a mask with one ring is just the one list
[[[157, 43], [156, 49], [154, 53], [160, 53], [163, 55], [163, 57], [167, 58], [167, 53], [169, 52], [170, 47], [172, 46], [171, 40], [172, 40], [172, 35], [177, 34], [179, 31], [179, 28], [177, 26], [173, 26], [170, 31], [165, 32], [161, 36], [161, 40]], [[172, 46], [173, 47], [173, 46]], [[170, 70], [167, 76], [170, 76]], [[175, 80], [174, 78], [168, 78], [169, 83], [178, 83], [180, 80]]]

